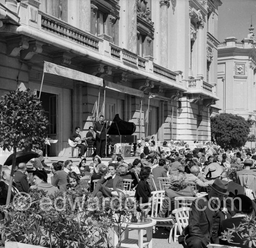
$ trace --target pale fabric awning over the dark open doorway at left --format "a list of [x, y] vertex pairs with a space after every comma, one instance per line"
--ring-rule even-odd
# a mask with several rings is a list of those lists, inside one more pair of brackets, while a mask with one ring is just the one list
[[90, 74], [82, 73], [67, 67], [62, 67], [54, 63], [44, 61], [44, 73], [55, 74], [62, 77], [84, 81], [90, 84], [103, 86], [103, 79], [92, 76]]

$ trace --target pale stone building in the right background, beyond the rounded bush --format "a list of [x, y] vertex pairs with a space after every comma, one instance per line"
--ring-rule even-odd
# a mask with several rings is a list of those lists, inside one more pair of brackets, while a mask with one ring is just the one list
[[256, 116], [256, 41], [254, 28], [241, 42], [229, 37], [218, 46], [218, 83], [216, 106], [246, 120]]

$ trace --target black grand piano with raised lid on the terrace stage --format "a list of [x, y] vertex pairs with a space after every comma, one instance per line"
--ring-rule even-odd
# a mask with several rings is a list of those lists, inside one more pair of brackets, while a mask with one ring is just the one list
[[115, 145], [116, 143], [136, 143], [137, 136], [132, 135], [136, 130], [133, 122], [123, 121], [119, 114], [115, 115], [112, 125], [108, 129], [107, 144]]

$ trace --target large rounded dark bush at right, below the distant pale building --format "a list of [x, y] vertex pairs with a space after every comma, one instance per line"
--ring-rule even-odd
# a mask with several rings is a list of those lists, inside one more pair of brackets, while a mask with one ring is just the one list
[[212, 140], [225, 148], [242, 147], [250, 132], [250, 124], [241, 116], [222, 113], [211, 117]]

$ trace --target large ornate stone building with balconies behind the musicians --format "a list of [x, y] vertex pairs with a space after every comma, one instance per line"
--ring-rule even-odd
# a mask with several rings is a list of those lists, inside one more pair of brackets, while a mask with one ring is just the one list
[[[218, 100], [221, 4], [0, 0], [0, 95], [21, 82], [39, 91], [43, 61], [48, 61], [112, 83], [106, 89], [105, 117], [111, 120], [118, 113], [135, 122], [138, 138], [209, 140], [211, 105]], [[40, 99], [51, 124], [49, 136], [58, 139], [53, 155], [64, 152], [75, 126], [85, 134], [99, 94], [102, 108], [103, 93], [103, 87], [88, 82], [45, 74]]]

